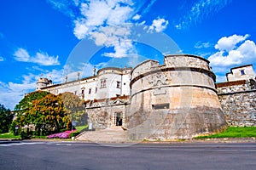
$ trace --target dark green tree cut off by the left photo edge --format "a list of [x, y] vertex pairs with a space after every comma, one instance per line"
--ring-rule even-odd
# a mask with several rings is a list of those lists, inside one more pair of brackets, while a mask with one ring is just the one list
[[0, 133], [8, 133], [9, 125], [13, 122], [14, 115], [0, 104]]

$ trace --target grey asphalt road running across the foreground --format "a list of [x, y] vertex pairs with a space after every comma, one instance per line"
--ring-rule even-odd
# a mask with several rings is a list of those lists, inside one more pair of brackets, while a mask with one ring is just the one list
[[[116, 147], [119, 146], [119, 147]], [[256, 143], [0, 142], [0, 169], [256, 169]]]

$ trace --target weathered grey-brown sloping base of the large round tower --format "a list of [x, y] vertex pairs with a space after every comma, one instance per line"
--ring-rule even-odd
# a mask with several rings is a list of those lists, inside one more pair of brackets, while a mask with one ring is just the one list
[[[142, 139], [191, 139], [201, 134], [218, 133], [226, 123], [220, 109], [207, 106], [161, 111], [141, 111], [140, 116], [129, 121], [129, 138]], [[146, 119], [145, 119], [146, 118]]]

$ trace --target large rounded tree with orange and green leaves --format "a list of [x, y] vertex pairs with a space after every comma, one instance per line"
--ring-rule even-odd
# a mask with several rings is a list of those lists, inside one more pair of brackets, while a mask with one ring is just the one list
[[44, 91], [32, 92], [20, 100], [15, 106], [15, 111], [17, 119], [13, 122], [13, 127], [18, 125], [21, 132], [36, 131], [37, 135], [46, 135], [71, 127], [63, 108], [61, 94], [55, 96]]

